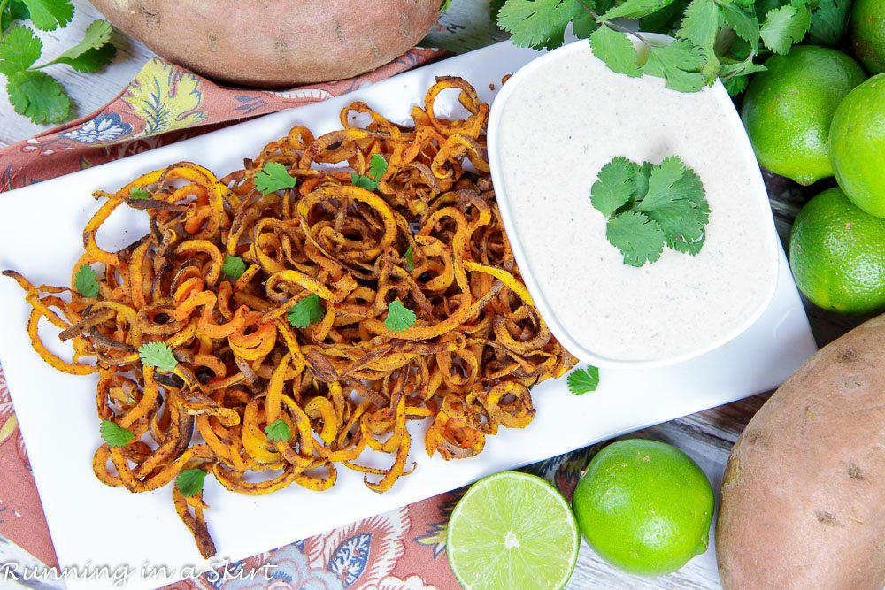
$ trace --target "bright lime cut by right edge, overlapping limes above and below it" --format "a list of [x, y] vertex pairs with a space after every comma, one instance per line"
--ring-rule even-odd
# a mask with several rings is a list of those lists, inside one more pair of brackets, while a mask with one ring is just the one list
[[851, 90], [830, 127], [835, 180], [854, 204], [885, 217], [885, 73]]

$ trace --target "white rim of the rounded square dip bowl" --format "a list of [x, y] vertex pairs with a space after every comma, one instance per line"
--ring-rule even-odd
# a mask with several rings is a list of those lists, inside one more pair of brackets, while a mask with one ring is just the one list
[[[642, 34], [646, 40], [651, 42], [661, 44], [673, 42], [673, 37], [669, 37], [664, 34]], [[637, 46], [637, 50], [642, 51], [642, 47], [638, 45], [639, 41], [636, 39], [633, 39], [632, 41]], [[757, 309], [754, 310], [753, 313], [749, 314], [747, 318], [745, 318], [743, 323], [736, 326], [735, 329], [725, 333], [720, 338], [710, 341], [703, 347], [689, 350], [688, 352], [681, 355], [652, 359], [618, 359], [599, 355], [593, 350], [582, 346], [572, 337], [566, 327], [563, 326], [563, 324], [558, 320], [556, 313], [543, 295], [543, 289], [539, 285], [538, 281], [535, 279], [535, 272], [533, 271], [531, 264], [529, 264], [526, 250], [522, 246], [522, 240], [519, 235], [519, 226], [512, 216], [510, 201], [507, 197], [506, 184], [504, 183], [503, 172], [501, 172], [497, 142], [500, 120], [514, 89], [517, 88], [521, 82], [526, 80], [532, 73], [535, 73], [535, 71], [543, 69], [543, 67], [548, 65], [550, 62], [567, 58], [568, 56], [578, 52], [579, 50], [590, 51], [589, 42], [587, 42], [587, 40], [579, 40], [576, 42], [566, 43], [558, 49], [546, 51], [542, 55], [533, 59], [527, 65], [523, 65], [521, 68], [519, 68], [519, 70], [513, 73], [512, 76], [507, 80], [507, 82], [502, 86], [502, 88], [496, 95], [495, 100], [491, 105], [491, 110], [489, 112], [489, 124], [487, 131], [489, 169], [491, 172], [492, 184], [495, 189], [496, 201], [498, 204], [498, 209], [501, 211], [501, 218], [504, 220], [504, 228], [507, 232], [507, 237], [513, 250], [513, 256], [516, 258], [516, 262], [519, 265], [519, 272], [522, 275], [522, 279], [526, 283], [528, 292], [534, 299], [535, 307], [540, 312], [543, 320], [547, 323], [547, 326], [550, 328], [550, 332], [557, 338], [559, 343], [566, 348], [566, 350], [568, 350], [570, 353], [573, 354], [573, 356], [576, 356], [584, 363], [593, 364], [598, 367], [661, 367], [671, 364], [678, 364], [697, 356], [702, 356], [714, 349], [719, 349], [721, 346], [727, 344], [727, 342], [735, 340], [737, 336], [746, 332], [747, 329], [750, 328], [750, 326], [758, 321], [758, 318], [762, 316], [763, 312], [768, 309], [768, 306], [771, 304], [774, 293], [777, 289], [779, 279], [778, 275], [780, 273], [779, 250], [777, 248], [779, 238], [776, 227], [774, 226], [773, 211], [771, 208], [771, 204], [769, 203], [765, 180], [762, 177], [762, 171], [759, 168], [758, 164], [752, 166], [752, 170], [750, 170], [750, 183], [752, 185], [755, 185], [758, 189], [756, 191], [752, 191], [753, 193], [757, 193], [757, 197], [753, 200], [758, 204], [758, 214], [760, 215], [760, 222], [763, 223], [766, 228], [768, 228], [767, 251], [769, 255], [769, 275], [771, 277], [771, 280], [769, 281], [769, 287], [766, 294], [760, 299]], [[743, 146], [744, 155], [749, 155], [751, 161], [756, 163], [756, 154], [753, 151], [752, 145], [750, 143], [750, 138], [747, 135], [746, 130], [744, 129], [743, 121], [741, 120], [740, 115], [735, 109], [734, 103], [732, 103], [731, 96], [728, 96], [725, 87], [722, 85], [722, 82], [720, 80], [716, 80], [715, 84], [713, 84], [711, 88], [704, 88], [702, 92], [707, 93], [710, 96], [711, 100], [715, 100], [720, 103], [727, 103], [727, 108], [724, 109], [727, 123], [735, 128], [735, 135], [739, 138]]]

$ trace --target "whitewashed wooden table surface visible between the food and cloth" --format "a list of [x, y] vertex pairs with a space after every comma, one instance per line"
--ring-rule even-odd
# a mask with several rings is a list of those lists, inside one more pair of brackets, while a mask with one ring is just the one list
[[[77, 11], [73, 24], [62, 31], [41, 34], [44, 43], [44, 57], [54, 57], [63, 48], [80, 39], [82, 31], [89, 23], [101, 15], [85, 0], [74, 0]], [[443, 47], [454, 51], [477, 49], [500, 41], [505, 34], [498, 30], [489, 19], [488, 0], [454, 0], [450, 11], [441, 19], [442, 29], [431, 34], [427, 45]], [[153, 54], [141, 43], [114, 34], [113, 42], [118, 54], [113, 64], [104, 73], [83, 75], [69, 68], [54, 66], [58, 80], [73, 99], [74, 115], [80, 117], [94, 111], [110, 101], [124, 88], [132, 76]], [[2, 94], [2, 93], [0, 93]], [[0, 98], [0, 147], [26, 139], [47, 126], [36, 126], [19, 117], [6, 102], [5, 94]], [[789, 232], [803, 199], [795, 190], [783, 190], [777, 181], [769, 180], [769, 192], [781, 237]], [[780, 189], [772, 187], [781, 187]], [[820, 344], [833, 340], [859, 323], [858, 319], [846, 320], [820, 310], [809, 309], [812, 328]], [[655, 438], [670, 442], [694, 457], [706, 471], [715, 489], [719, 489], [722, 472], [728, 452], [738, 434], [752, 415], [766, 400], [766, 395], [731, 403], [713, 410], [673, 420], [632, 436]], [[712, 534], [711, 534], [712, 536]], [[716, 571], [715, 553], [712, 547], [703, 556], [698, 556], [686, 567], [669, 576], [660, 578], [640, 578], [615, 570], [600, 560], [586, 544], [581, 546], [577, 567], [567, 588], [584, 590], [587, 588], [718, 588], [719, 576]], [[443, 590], [443, 589], [441, 589]], [[449, 589], [444, 589], [449, 590]]]

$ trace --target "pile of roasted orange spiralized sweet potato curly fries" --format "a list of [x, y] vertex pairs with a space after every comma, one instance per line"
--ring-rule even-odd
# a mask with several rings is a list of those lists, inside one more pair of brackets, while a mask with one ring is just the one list
[[[447, 88], [464, 119], [435, 115]], [[499, 426], [528, 425], [528, 388], [576, 361], [535, 309], [504, 234], [488, 113], [459, 78], [436, 80], [414, 126], [351, 103], [342, 130], [314, 138], [295, 127], [221, 179], [182, 162], [96, 193], [104, 203], [77, 264], [97, 271], [95, 297], [5, 272], [33, 306], [36, 351], [59, 371], [97, 373], [98, 417], [134, 434], [96, 450], [98, 479], [147, 492], [200, 469], [232, 492], [269, 494], [325, 490], [343, 465], [384, 492], [414, 470], [409, 420], [427, 418], [427, 454], [444, 459], [477, 455]], [[359, 118], [371, 123], [351, 126]], [[366, 174], [375, 154], [388, 163], [377, 189], [354, 186], [351, 173]], [[255, 175], [272, 162], [295, 188], [258, 191]], [[103, 250], [96, 233], [120, 206], [147, 211], [150, 231]], [[247, 266], [235, 280], [222, 273], [228, 256]], [[311, 295], [325, 315], [297, 328], [289, 310]], [[412, 327], [385, 326], [394, 300], [415, 312]], [[73, 363], [44, 346], [42, 318], [72, 343]], [[152, 341], [173, 350], [173, 371], [142, 363]], [[280, 420], [288, 440], [266, 433]], [[389, 454], [389, 468], [361, 464], [366, 448]], [[173, 485], [173, 499], [201, 553], [214, 555], [202, 491]]]

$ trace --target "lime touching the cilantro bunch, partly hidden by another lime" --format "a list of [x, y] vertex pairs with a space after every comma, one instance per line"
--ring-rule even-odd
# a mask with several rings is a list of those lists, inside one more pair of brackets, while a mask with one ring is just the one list
[[799, 184], [833, 175], [827, 134], [836, 106], [866, 79], [842, 51], [813, 45], [769, 57], [747, 88], [741, 119], [759, 164]]

